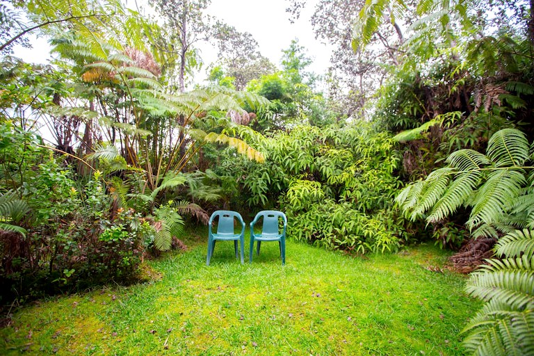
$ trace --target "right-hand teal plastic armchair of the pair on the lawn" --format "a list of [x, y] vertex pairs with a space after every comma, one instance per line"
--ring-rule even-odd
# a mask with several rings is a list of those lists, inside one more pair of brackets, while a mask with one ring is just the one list
[[[254, 225], [256, 225], [260, 218], [264, 218], [264, 223], [261, 227], [261, 234], [256, 234], [254, 233]], [[279, 218], [282, 218], [282, 222], [284, 223], [282, 232], [280, 232], [278, 224]], [[257, 241], [256, 253], [258, 255], [261, 241], [278, 241], [278, 246], [280, 247], [280, 257], [282, 257], [282, 265], [286, 264], [286, 229], [287, 218], [286, 214], [282, 213], [282, 211], [264, 210], [257, 213], [254, 220], [252, 220], [252, 223], [250, 223], [250, 262], [252, 262], [254, 241]]]

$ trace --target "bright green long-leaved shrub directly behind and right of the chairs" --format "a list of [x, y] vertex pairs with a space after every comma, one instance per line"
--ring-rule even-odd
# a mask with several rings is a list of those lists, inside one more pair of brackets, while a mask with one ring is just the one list
[[243, 197], [236, 206], [282, 209], [289, 236], [329, 249], [393, 252], [412, 237], [391, 204], [401, 186], [395, 177], [400, 157], [387, 133], [363, 122], [302, 125], [253, 145], [265, 163], [226, 156], [213, 168], [236, 175]]

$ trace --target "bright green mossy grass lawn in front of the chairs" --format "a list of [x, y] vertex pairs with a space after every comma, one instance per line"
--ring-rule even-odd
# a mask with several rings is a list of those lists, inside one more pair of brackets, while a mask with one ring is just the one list
[[0, 354], [462, 355], [480, 307], [433, 246], [361, 258], [288, 242], [281, 266], [277, 243], [241, 265], [222, 242], [208, 267], [200, 240], [150, 261], [154, 282], [19, 309]]

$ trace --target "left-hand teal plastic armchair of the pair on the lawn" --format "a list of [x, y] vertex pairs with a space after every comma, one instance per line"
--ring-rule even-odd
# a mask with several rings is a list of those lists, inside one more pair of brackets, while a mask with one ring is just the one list
[[[217, 232], [213, 234], [212, 225], [213, 222], [218, 218], [217, 223]], [[234, 232], [234, 219], [237, 219], [241, 223], [241, 232], [236, 234]], [[223, 241], [234, 241], [234, 250], [236, 251], [237, 258], [237, 241], [241, 242], [241, 264], [243, 264], [243, 250], [245, 245], [245, 223], [241, 214], [236, 211], [229, 210], [218, 210], [214, 211], [209, 218], [209, 232], [208, 232], [208, 258], [206, 260], [206, 265], [209, 266], [209, 260], [213, 256], [213, 250], [215, 249], [215, 243], [218, 240]]]

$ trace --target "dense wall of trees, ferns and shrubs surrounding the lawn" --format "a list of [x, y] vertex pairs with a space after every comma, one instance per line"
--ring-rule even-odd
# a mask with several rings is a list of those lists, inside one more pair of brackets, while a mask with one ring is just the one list
[[[533, 279], [532, 3], [318, 1], [324, 77], [297, 40], [278, 70], [208, 0], [149, 3], [160, 24], [120, 1], [0, 6], [6, 298], [131, 280], [213, 210], [281, 209], [291, 238], [358, 254], [501, 239], [466, 346], [530, 351], [531, 296], [509, 290]], [[35, 31], [49, 65], [9, 56]], [[203, 40], [220, 58], [188, 88]]]

